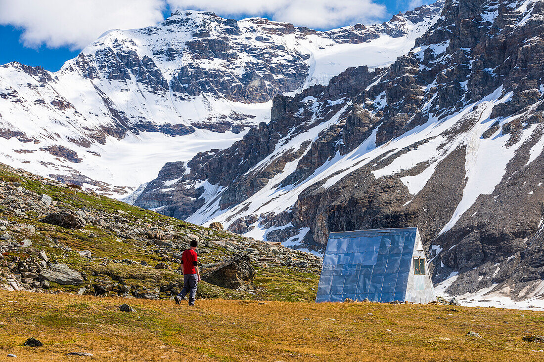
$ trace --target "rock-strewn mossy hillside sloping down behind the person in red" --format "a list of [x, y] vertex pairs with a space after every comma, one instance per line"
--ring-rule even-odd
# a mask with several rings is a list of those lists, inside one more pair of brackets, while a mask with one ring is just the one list
[[[322, 264], [309, 253], [219, 227], [176, 221], [94, 192], [82, 190], [74, 195], [63, 184], [3, 164], [0, 174], [0, 290], [169, 298], [183, 284], [182, 251], [193, 240], [199, 242], [197, 253], [204, 269], [246, 253], [220, 269], [233, 277], [225, 279], [228, 285], [246, 290], [234, 295], [227, 291], [237, 298], [254, 298], [248, 278], [256, 272], [255, 266], [262, 270], [297, 267], [316, 276]], [[54, 200], [42, 202], [45, 195]], [[86, 227], [70, 229], [40, 221], [39, 215], [64, 212], [81, 217]], [[203, 298], [218, 297], [220, 292], [220, 286], [206, 283], [199, 288]]]

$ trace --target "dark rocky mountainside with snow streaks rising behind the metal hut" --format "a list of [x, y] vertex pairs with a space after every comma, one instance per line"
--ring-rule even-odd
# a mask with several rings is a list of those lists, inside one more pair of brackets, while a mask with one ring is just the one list
[[276, 96], [268, 124], [180, 172], [165, 167], [137, 204], [315, 249], [331, 231], [419, 226], [447, 293], [533, 297], [543, 18], [539, 1], [448, 0], [391, 66]]

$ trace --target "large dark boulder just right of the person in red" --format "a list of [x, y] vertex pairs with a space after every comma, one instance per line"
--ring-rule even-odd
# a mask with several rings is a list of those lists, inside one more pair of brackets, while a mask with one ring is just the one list
[[249, 290], [254, 289], [252, 282], [255, 271], [247, 253], [239, 253], [234, 257], [215, 264], [202, 271], [205, 282], [222, 286], [222, 288]]

